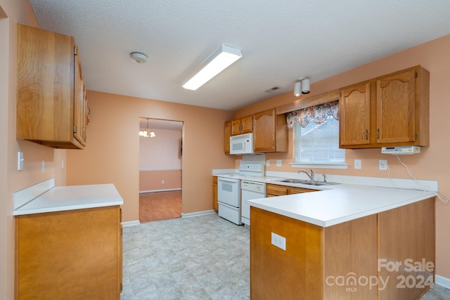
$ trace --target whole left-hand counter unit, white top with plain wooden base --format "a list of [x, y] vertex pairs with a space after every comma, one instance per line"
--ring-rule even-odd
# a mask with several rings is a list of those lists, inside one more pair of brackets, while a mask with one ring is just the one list
[[121, 204], [113, 184], [16, 192], [15, 299], [120, 299]]

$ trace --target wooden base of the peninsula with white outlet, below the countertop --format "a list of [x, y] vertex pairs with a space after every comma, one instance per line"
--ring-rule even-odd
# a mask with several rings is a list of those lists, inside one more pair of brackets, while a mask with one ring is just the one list
[[[429, 286], [406, 285], [420, 276], [434, 282], [434, 268], [405, 271], [405, 262], [434, 267], [434, 211], [432, 198], [323, 228], [251, 207], [250, 297], [418, 299]], [[285, 251], [271, 244], [271, 233], [285, 237]], [[398, 271], [386, 268], [392, 263], [401, 263]], [[401, 285], [398, 276], [412, 279]]]

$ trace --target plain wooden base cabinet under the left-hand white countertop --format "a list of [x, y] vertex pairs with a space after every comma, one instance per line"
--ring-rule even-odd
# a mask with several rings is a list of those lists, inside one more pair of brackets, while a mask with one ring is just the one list
[[119, 206], [15, 217], [15, 299], [120, 299]]

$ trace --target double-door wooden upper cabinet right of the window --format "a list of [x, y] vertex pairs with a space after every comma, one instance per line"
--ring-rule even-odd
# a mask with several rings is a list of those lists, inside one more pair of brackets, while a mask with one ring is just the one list
[[430, 72], [418, 65], [346, 87], [339, 109], [340, 148], [429, 146]]

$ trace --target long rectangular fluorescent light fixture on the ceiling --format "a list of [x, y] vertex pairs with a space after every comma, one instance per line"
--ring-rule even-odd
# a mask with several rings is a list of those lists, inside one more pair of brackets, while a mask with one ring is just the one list
[[203, 62], [200, 66], [200, 71], [189, 79], [186, 84], [183, 84], [184, 89], [195, 91], [241, 57], [242, 54], [239, 49], [221, 45]]

